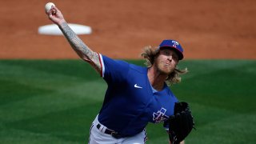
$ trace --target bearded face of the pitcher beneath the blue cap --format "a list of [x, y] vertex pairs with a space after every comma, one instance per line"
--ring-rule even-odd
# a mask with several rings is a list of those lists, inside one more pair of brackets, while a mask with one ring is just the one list
[[172, 73], [177, 64], [178, 54], [168, 48], [160, 50], [158, 57], [154, 61], [154, 65], [157, 67], [158, 71], [163, 74]]

